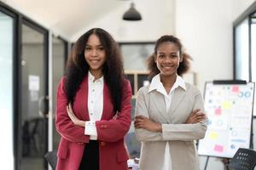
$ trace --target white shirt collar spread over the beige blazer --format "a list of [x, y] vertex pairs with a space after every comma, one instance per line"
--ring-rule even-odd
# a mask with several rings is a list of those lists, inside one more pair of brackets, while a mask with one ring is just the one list
[[[157, 74], [156, 76], [153, 77], [153, 79], [152, 79], [152, 81], [149, 85], [148, 93], [153, 91], [153, 90], [160, 89], [161, 86], [163, 86], [163, 84], [160, 81], [160, 74]], [[176, 81], [174, 82], [172, 88], [175, 89], [177, 87], [181, 87], [185, 91], [187, 90], [185, 81], [183, 80], [182, 77], [180, 77], [178, 75], [177, 75]]]

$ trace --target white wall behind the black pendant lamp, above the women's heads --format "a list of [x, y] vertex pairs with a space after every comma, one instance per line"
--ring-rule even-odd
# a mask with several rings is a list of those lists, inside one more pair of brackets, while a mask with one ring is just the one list
[[130, 8], [131, 1], [127, 1], [127, 5], [113, 9], [93, 24], [85, 25], [71, 39], [76, 41], [85, 31], [93, 27], [105, 29], [118, 42], [154, 42], [162, 34], [174, 32], [174, 0], [138, 0], [134, 2], [135, 8], [142, 14], [143, 20], [122, 20], [125, 11]]

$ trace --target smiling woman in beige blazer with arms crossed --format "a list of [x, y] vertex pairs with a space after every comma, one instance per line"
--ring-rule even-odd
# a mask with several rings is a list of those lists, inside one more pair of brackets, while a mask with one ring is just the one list
[[153, 79], [137, 93], [134, 122], [142, 170], [199, 169], [195, 140], [204, 138], [207, 118], [200, 91], [180, 77], [189, 59], [173, 36], [160, 37], [148, 59]]

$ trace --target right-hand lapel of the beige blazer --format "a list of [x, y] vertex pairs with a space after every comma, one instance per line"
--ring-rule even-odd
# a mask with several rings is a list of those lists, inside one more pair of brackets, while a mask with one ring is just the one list
[[168, 111], [169, 117], [172, 116], [173, 112], [177, 109], [177, 106], [182, 102], [186, 91], [183, 88], [178, 87], [174, 90], [174, 94], [172, 96], [172, 103], [170, 105], [170, 109]]

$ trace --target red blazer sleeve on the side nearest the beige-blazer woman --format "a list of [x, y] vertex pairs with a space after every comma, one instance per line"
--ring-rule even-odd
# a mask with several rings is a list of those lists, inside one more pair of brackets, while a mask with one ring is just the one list
[[124, 81], [121, 111], [116, 119], [96, 121], [97, 139], [115, 142], [123, 139], [131, 126], [131, 84]]

